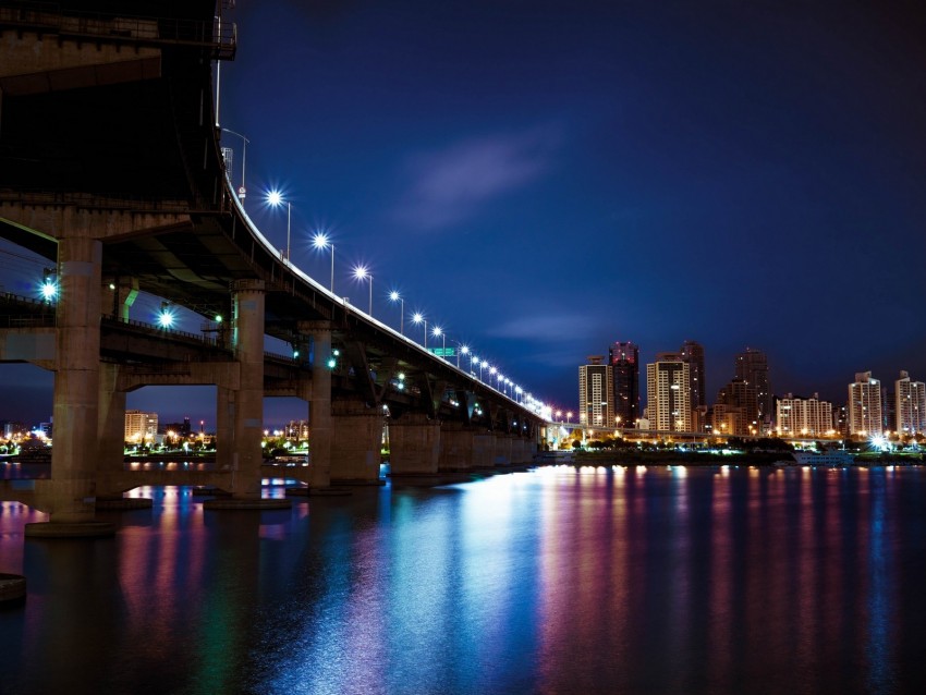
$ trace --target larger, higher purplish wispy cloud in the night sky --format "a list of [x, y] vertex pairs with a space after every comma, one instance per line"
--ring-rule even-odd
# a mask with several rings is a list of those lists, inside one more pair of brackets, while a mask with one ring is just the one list
[[538, 127], [416, 155], [406, 166], [410, 181], [397, 217], [419, 230], [439, 230], [473, 217], [546, 173], [559, 139], [558, 129]]

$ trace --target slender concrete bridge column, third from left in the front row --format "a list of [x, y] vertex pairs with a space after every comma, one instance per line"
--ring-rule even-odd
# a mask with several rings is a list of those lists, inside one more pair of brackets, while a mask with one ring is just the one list
[[[312, 389], [308, 394], [308, 461], [309, 488], [331, 485], [331, 324], [301, 321], [300, 332], [312, 337]], [[377, 456], [378, 456], [377, 449]], [[377, 459], [378, 461], [378, 459]], [[376, 472], [379, 477], [379, 468]]]

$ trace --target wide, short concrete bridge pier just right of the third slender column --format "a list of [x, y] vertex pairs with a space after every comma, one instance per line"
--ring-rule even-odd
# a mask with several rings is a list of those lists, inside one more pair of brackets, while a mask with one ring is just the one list
[[331, 403], [331, 481], [378, 484], [382, 412], [360, 399], [340, 399]]

